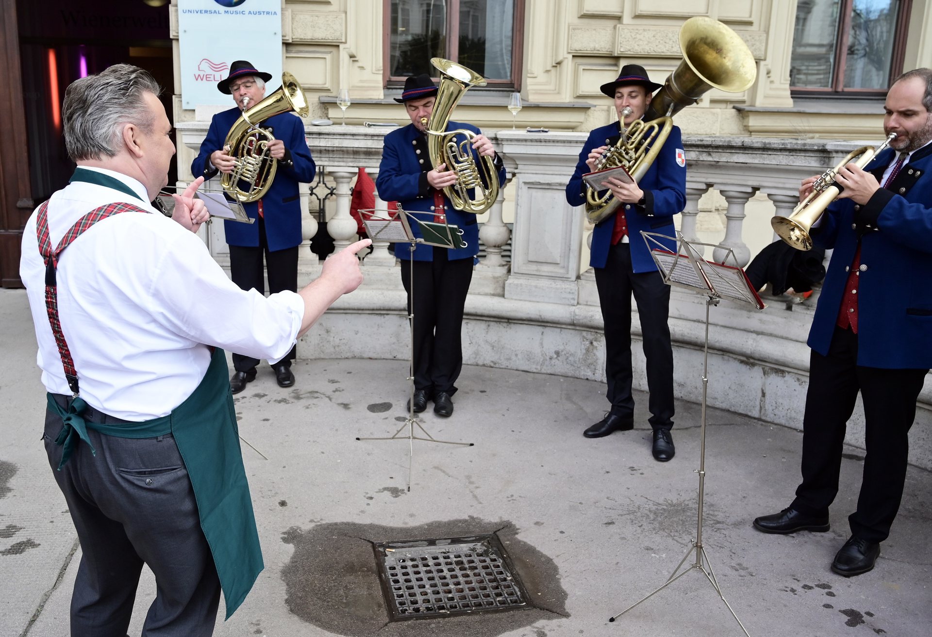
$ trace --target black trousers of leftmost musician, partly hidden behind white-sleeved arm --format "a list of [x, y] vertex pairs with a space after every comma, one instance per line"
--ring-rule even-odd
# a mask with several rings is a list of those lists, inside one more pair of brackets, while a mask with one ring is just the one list
[[[266, 278], [262, 268], [262, 259], [266, 259], [268, 271], [268, 291], [274, 294], [277, 291], [297, 291], [297, 256], [298, 247], [285, 250], [268, 250], [266, 240], [266, 223], [257, 219], [259, 224], [259, 245], [257, 247], [230, 246], [230, 278], [240, 286], [240, 290], [257, 290], [260, 294], [266, 293]], [[296, 347], [296, 346], [295, 346]], [[288, 356], [281, 360], [288, 366], [295, 359], [295, 347], [288, 352]], [[259, 359], [253, 359], [241, 354], [233, 354], [233, 367], [237, 372], [249, 372], [259, 364]]]

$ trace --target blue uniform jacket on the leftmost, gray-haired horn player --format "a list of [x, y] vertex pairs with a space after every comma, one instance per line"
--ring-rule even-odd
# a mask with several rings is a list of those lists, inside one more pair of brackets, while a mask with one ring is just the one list
[[[218, 173], [210, 162], [211, 154], [224, 147], [226, 133], [240, 117], [240, 109], [234, 106], [228, 111], [213, 115], [207, 137], [200, 144], [200, 153], [191, 163], [191, 174], [196, 178], [211, 179]], [[314, 179], [316, 167], [308, 150], [301, 118], [291, 113], [274, 115], [260, 124], [276, 139], [285, 144], [285, 156], [279, 161], [275, 180], [262, 197], [263, 217], [266, 221], [266, 240], [269, 251], [294, 248], [301, 243], [301, 195], [298, 183], [309, 183]], [[220, 187], [220, 178], [215, 188]], [[258, 216], [258, 202], [243, 204], [246, 214]], [[255, 248], [259, 245], [259, 225], [240, 222], [224, 222], [226, 243], [231, 246]]]

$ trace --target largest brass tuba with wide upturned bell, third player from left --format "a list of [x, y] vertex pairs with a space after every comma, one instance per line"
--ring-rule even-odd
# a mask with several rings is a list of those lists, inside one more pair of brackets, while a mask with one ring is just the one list
[[[694, 104], [709, 88], [728, 93], [746, 90], [757, 77], [754, 55], [741, 36], [719, 20], [696, 16], [679, 30], [683, 60], [653, 96], [642, 119], [623, 130], [619, 141], [602, 155], [596, 169], [624, 166], [635, 182], [647, 173], [673, 129], [673, 115]], [[610, 192], [599, 197], [586, 187], [586, 218], [607, 219], [620, 202]]]

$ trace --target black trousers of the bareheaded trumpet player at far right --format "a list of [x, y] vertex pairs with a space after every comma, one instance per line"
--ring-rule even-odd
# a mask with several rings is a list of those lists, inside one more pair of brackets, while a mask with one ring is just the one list
[[812, 352], [802, 418], [802, 483], [792, 507], [823, 515], [838, 494], [842, 445], [857, 392], [864, 403], [864, 473], [851, 533], [883, 542], [897, 517], [906, 481], [909, 431], [928, 370], [857, 365], [857, 334], [835, 328], [829, 355]]

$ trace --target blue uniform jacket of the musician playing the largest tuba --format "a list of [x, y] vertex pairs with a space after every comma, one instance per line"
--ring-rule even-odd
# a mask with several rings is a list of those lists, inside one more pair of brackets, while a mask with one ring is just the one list
[[[585, 141], [579, 162], [576, 164], [576, 171], [567, 184], [567, 201], [570, 206], [582, 206], [585, 203], [583, 175], [590, 171], [585, 163], [589, 153], [593, 148], [617, 142], [619, 135], [618, 122], [589, 133], [589, 139]], [[635, 272], [655, 272], [657, 265], [653, 263], [651, 252], [640, 233], [643, 230], [667, 237], [676, 236], [673, 215], [686, 206], [686, 154], [683, 152], [683, 138], [678, 127], [670, 130], [660, 154], [637, 185], [644, 191], [644, 205], [624, 204], [628, 240], [631, 241], [631, 264]], [[596, 224], [589, 256], [589, 264], [593, 267], [605, 267], [614, 226], [614, 214]], [[676, 241], [662, 243], [669, 251], [677, 249]], [[651, 249], [654, 247], [656, 246], [651, 244]]]

